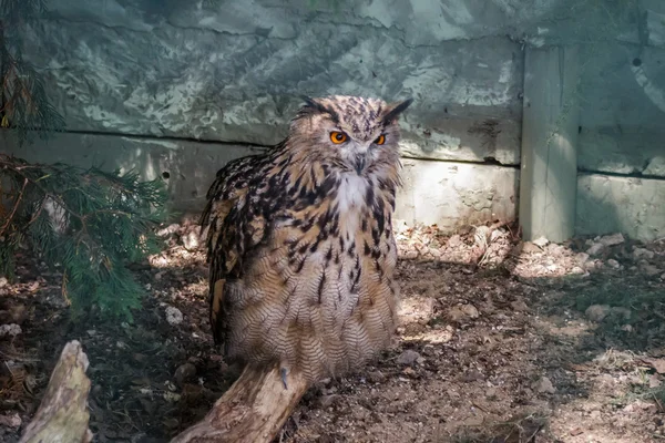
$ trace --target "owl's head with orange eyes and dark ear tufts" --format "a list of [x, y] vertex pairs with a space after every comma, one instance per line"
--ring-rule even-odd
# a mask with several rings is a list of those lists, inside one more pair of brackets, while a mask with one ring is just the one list
[[289, 140], [310, 159], [361, 176], [399, 163], [397, 119], [412, 99], [392, 104], [346, 95], [303, 99]]

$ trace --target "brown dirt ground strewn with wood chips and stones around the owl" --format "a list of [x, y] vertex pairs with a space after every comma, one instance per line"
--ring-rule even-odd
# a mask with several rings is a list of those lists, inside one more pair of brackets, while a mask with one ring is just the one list
[[[149, 296], [131, 324], [71, 322], [60, 275], [28, 251], [17, 281], [0, 279], [0, 441], [18, 441], [71, 339], [90, 359], [95, 442], [165, 442], [231, 385], [196, 234], [161, 234], [165, 251], [134, 269]], [[400, 226], [398, 241], [393, 347], [310, 389], [277, 441], [665, 440], [665, 240]]]

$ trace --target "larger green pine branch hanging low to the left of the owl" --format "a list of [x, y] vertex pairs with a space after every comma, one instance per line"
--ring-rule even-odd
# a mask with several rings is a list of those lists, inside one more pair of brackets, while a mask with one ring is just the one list
[[[95, 308], [131, 319], [143, 289], [126, 265], [158, 250], [153, 227], [167, 216], [163, 182], [0, 154], [2, 184], [0, 198], [10, 204], [0, 217], [0, 258], [27, 240], [43, 261], [60, 265], [74, 315]], [[11, 276], [13, 261], [1, 260], [0, 272]]]

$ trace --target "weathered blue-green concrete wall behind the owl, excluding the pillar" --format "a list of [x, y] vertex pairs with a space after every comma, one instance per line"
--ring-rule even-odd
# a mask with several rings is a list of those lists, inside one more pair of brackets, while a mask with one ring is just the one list
[[[146, 178], [167, 172], [176, 207], [195, 212], [218, 167], [285, 135], [299, 94], [413, 96], [401, 122], [398, 216], [449, 229], [511, 219], [523, 45], [565, 43], [562, 35], [586, 30], [597, 11], [573, 13], [577, 3], [51, 0], [47, 17], [25, 30], [23, 54], [43, 75], [68, 133], [22, 148], [4, 134], [0, 150], [42, 162], [103, 159]], [[636, 23], [620, 20], [612, 32], [623, 45], [590, 50], [581, 89], [584, 169], [663, 175], [656, 123], [664, 115], [665, 11], [654, 4], [644, 6], [646, 42]], [[637, 48], [642, 63], [634, 66]], [[642, 138], [631, 136], [636, 131]], [[584, 207], [580, 230], [603, 227], [604, 216]]]

